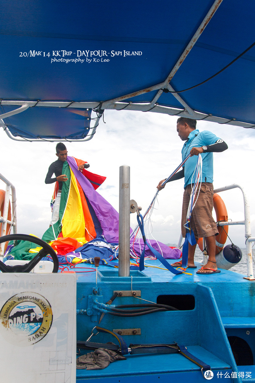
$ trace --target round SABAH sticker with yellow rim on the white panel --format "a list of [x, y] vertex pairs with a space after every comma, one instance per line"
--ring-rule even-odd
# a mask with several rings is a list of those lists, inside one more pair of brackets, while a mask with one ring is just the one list
[[10, 343], [29, 346], [42, 340], [52, 324], [51, 305], [42, 295], [13, 295], [0, 311], [0, 332]]

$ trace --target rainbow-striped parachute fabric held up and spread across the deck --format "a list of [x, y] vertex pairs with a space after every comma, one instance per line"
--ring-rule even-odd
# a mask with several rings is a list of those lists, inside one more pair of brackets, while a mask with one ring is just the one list
[[[98, 242], [98, 239], [101, 242], [105, 241], [108, 244], [114, 244], [114, 246], [118, 245], [119, 241], [119, 214], [95, 190], [104, 182], [106, 177], [90, 173], [85, 169], [80, 171], [78, 170], [80, 164], [84, 164], [84, 161], [74, 157], [67, 157], [67, 161], [64, 162], [62, 174], [65, 174], [68, 180], [63, 182], [62, 185], [59, 220], [47, 229], [42, 237], [46, 242], [54, 241], [51, 244], [54, 249], [57, 245], [60, 245], [59, 239], [62, 237], [64, 241], [60, 239], [60, 242], [63, 242], [63, 244], [68, 242], [68, 246], [70, 242], [73, 242], [72, 239], [77, 239], [78, 242], [82, 241], [82, 248], [79, 247], [75, 250], [75, 254], [77, 251], [79, 254], [86, 253], [87, 249], [90, 249], [90, 246], [87, 247], [87, 242], [90, 242], [88, 245], [91, 245], [92, 242], [94, 243], [95, 238], [96, 242]], [[131, 232], [132, 229], [130, 229]], [[136, 241], [134, 244], [133, 242], [134, 237], [131, 238], [131, 247], [135, 257], [140, 256], [143, 242]], [[153, 240], [150, 241], [150, 244], [155, 250], [162, 252], [165, 258], [180, 258], [180, 250], [180, 253], [175, 254], [170, 247], [160, 242]], [[59, 255], [64, 254], [62, 251], [58, 252], [58, 248], [55, 250]], [[145, 255], [150, 258], [153, 257], [149, 249], [145, 250]], [[93, 257], [91, 250], [89, 257]]]

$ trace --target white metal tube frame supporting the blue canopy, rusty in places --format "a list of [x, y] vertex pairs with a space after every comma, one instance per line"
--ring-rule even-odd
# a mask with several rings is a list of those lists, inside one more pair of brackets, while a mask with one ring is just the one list
[[[170, 116], [180, 116], [180, 117], [188, 117], [188, 118], [194, 118], [197, 120], [206, 120], [206, 121], [211, 121], [219, 124], [229, 124], [229, 125], [234, 125], [234, 126], [242, 126], [244, 128], [255, 128], [254, 124], [250, 123], [245, 123], [242, 121], [237, 121], [235, 118], [232, 119], [227, 119], [227, 118], [221, 118], [217, 116], [213, 116], [212, 114], [204, 114], [199, 111], [193, 110], [184, 100], [181, 98], [178, 93], [172, 93], [172, 95], [180, 102], [180, 104], [183, 106], [183, 109], [180, 108], [175, 108], [175, 107], [170, 107], [170, 106], [165, 106], [165, 105], [160, 105], [157, 103], [157, 100], [159, 97], [162, 95], [165, 89], [169, 90], [170, 92], [175, 92], [175, 89], [170, 85], [170, 81], [173, 79], [173, 76], [177, 73], [178, 69], [180, 68], [181, 64], [187, 57], [188, 53], [191, 51], [193, 46], [195, 45], [196, 41], [198, 40], [199, 36], [204, 31], [204, 28], [206, 25], [208, 25], [209, 21], [211, 20], [212, 16], [216, 12], [216, 10], [219, 8], [223, 0], [215, 0], [212, 7], [208, 11], [207, 15], [205, 16], [204, 20], [200, 24], [199, 28], [191, 38], [190, 42], [186, 46], [185, 50], [181, 54], [180, 58], [174, 65], [173, 69], [167, 76], [164, 82], [158, 83], [156, 85], [153, 85], [151, 87], [138, 90], [133, 93], [129, 93], [127, 95], [123, 95], [121, 97], [114, 98], [112, 100], [108, 101], [97, 101], [97, 102], [79, 102], [79, 101], [13, 101], [13, 100], [2, 100], [1, 105], [8, 105], [8, 106], [19, 106], [19, 108], [10, 111], [8, 113], [4, 113], [0, 115], [0, 126], [3, 127], [4, 131], [7, 133], [7, 135], [15, 140], [15, 141], [77, 141], [77, 142], [82, 142], [82, 141], [89, 141], [92, 139], [93, 135], [95, 134], [96, 128], [99, 124], [100, 118], [103, 115], [103, 111], [106, 110], [135, 110], [135, 111], [151, 111], [153, 113], [163, 113], [163, 114], [168, 114]], [[132, 102], [132, 101], [126, 101], [129, 100], [132, 97], [136, 97], [138, 95], [142, 95], [144, 93], [152, 92], [158, 90], [157, 94], [153, 98], [153, 100], [149, 102]], [[97, 110], [97, 118], [95, 119], [95, 124], [92, 128], [90, 128], [87, 136], [83, 139], [70, 139], [68, 137], [64, 137], [62, 139], [43, 139], [41, 137], [38, 138], [23, 138], [23, 137], [15, 137], [13, 134], [11, 134], [10, 130], [8, 127], [5, 125], [3, 118], [7, 118], [9, 116], [21, 113], [28, 109], [29, 107], [59, 107], [59, 108], [88, 108], [95, 110], [98, 108], [100, 105], [100, 111]]]

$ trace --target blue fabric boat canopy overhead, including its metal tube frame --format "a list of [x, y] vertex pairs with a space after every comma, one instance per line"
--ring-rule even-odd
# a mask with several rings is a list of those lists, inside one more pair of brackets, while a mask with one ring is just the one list
[[1, 14], [13, 139], [87, 141], [107, 109], [255, 127], [253, 0], [5, 0]]

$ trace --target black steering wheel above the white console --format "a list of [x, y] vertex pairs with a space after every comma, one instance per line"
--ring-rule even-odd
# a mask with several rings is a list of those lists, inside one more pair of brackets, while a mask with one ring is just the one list
[[0, 262], [0, 270], [3, 273], [29, 273], [35, 265], [38, 264], [38, 262], [43, 258], [46, 257], [46, 255], [50, 255], [52, 260], [53, 260], [53, 270], [52, 273], [57, 273], [59, 270], [59, 259], [57, 257], [56, 252], [52, 249], [47, 242], [44, 242], [42, 239], [34, 237], [34, 236], [29, 236], [27, 234], [10, 234], [8, 236], [3, 236], [0, 237], [0, 243], [2, 242], [7, 242], [11, 241], [12, 239], [21, 239], [23, 241], [29, 241], [33, 242], [36, 245], [39, 245], [43, 247], [38, 254], [34, 256], [33, 259], [31, 259], [30, 262], [28, 262], [25, 265], [15, 265], [15, 266], [8, 266], [5, 265], [3, 262]]

